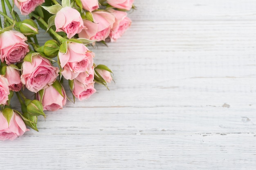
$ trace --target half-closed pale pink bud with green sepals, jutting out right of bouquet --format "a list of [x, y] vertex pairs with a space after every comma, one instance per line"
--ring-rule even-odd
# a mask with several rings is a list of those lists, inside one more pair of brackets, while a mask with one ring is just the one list
[[113, 72], [106, 65], [97, 65], [94, 68], [94, 78], [96, 76], [101, 81], [105, 81], [106, 83], [110, 83], [113, 80], [110, 73]]

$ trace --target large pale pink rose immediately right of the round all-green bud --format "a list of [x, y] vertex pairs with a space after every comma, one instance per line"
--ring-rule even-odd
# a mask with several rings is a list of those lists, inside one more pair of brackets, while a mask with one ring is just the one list
[[67, 43], [67, 52], [58, 54], [61, 68], [61, 74], [68, 80], [73, 80], [80, 73], [86, 72], [92, 68], [94, 53], [89, 51], [85, 45], [69, 42]]

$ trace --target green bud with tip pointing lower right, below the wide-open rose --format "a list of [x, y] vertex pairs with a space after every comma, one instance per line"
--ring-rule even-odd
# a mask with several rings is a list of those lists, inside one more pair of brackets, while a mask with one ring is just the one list
[[27, 112], [32, 116], [39, 116], [42, 115], [46, 118], [45, 113], [43, 112], [43, 105], [38, 100], [25, 100], [25, 104], [27, 105]]

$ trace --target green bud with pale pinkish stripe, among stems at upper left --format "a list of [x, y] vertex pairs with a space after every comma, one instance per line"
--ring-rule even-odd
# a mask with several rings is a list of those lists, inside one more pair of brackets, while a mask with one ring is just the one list
[[20, 24], [20, 32], [28, 37], [33, 37], [38, 34], [38, 27], [36, 22], [31, 19], [25, 19]]

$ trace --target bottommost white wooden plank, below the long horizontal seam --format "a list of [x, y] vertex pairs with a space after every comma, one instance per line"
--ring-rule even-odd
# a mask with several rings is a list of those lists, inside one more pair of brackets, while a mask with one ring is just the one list
[[3, 143], [1, 155], [8, 154], [0, 161], [5, 170], [243, 170], [255, 167], [255, 138], [253, 134], [25, 135]]

